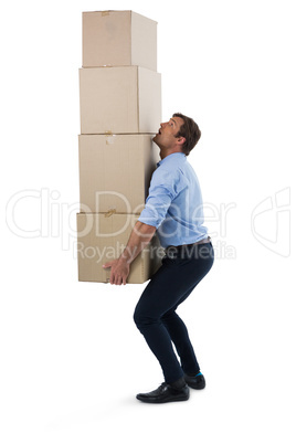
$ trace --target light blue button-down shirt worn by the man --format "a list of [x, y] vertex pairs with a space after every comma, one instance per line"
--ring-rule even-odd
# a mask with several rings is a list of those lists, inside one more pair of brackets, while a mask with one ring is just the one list
[[161, 246], [192, 244], [208, 236], [198, 177], [182, 152], [157, 163], [139, 221], [156, 226]]

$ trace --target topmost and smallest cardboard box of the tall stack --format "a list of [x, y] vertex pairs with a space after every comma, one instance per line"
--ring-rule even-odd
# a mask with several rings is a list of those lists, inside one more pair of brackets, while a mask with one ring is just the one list
[[133, 11], [83, 12], [83, 67], [157, 71], [157, 22]]

